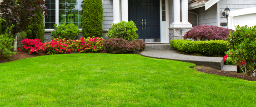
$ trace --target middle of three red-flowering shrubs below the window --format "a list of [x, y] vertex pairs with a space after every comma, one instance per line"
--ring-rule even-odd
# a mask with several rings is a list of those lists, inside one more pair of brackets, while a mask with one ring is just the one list
[[73, 40], [53, 38], [51, 42], [45, 42], [47, 54], [61, 54], [75, 51], [72, 47]]

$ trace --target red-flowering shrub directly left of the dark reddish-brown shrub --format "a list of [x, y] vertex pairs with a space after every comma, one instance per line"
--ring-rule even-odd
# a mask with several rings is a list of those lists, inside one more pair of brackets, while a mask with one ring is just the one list
[[100, 51], [102, 50], [103, 38], [94, 37], [90, 38], [81, 37], [79, 40], [73, 41], [72, 46], [75, 51], [83, 53], [85, 51]]

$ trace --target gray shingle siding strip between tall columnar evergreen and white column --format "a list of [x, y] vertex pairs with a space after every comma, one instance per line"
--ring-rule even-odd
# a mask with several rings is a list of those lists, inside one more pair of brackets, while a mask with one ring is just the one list
[[108, 30], [113, 23], [113, 0], [103, 0], [103, 30]]

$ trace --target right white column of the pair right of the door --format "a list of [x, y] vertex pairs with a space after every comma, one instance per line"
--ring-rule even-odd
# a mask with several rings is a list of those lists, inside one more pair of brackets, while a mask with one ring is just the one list
[[188, 22], [188, 0], [181, 0], [181, 16], [183, 24], [190, 24]]

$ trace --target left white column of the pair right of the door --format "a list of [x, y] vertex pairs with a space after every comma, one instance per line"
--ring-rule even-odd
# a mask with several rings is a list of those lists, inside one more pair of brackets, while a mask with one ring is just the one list
[[173, 0], [173, 23], [181, 24], [181, 8], [180, 0]]

